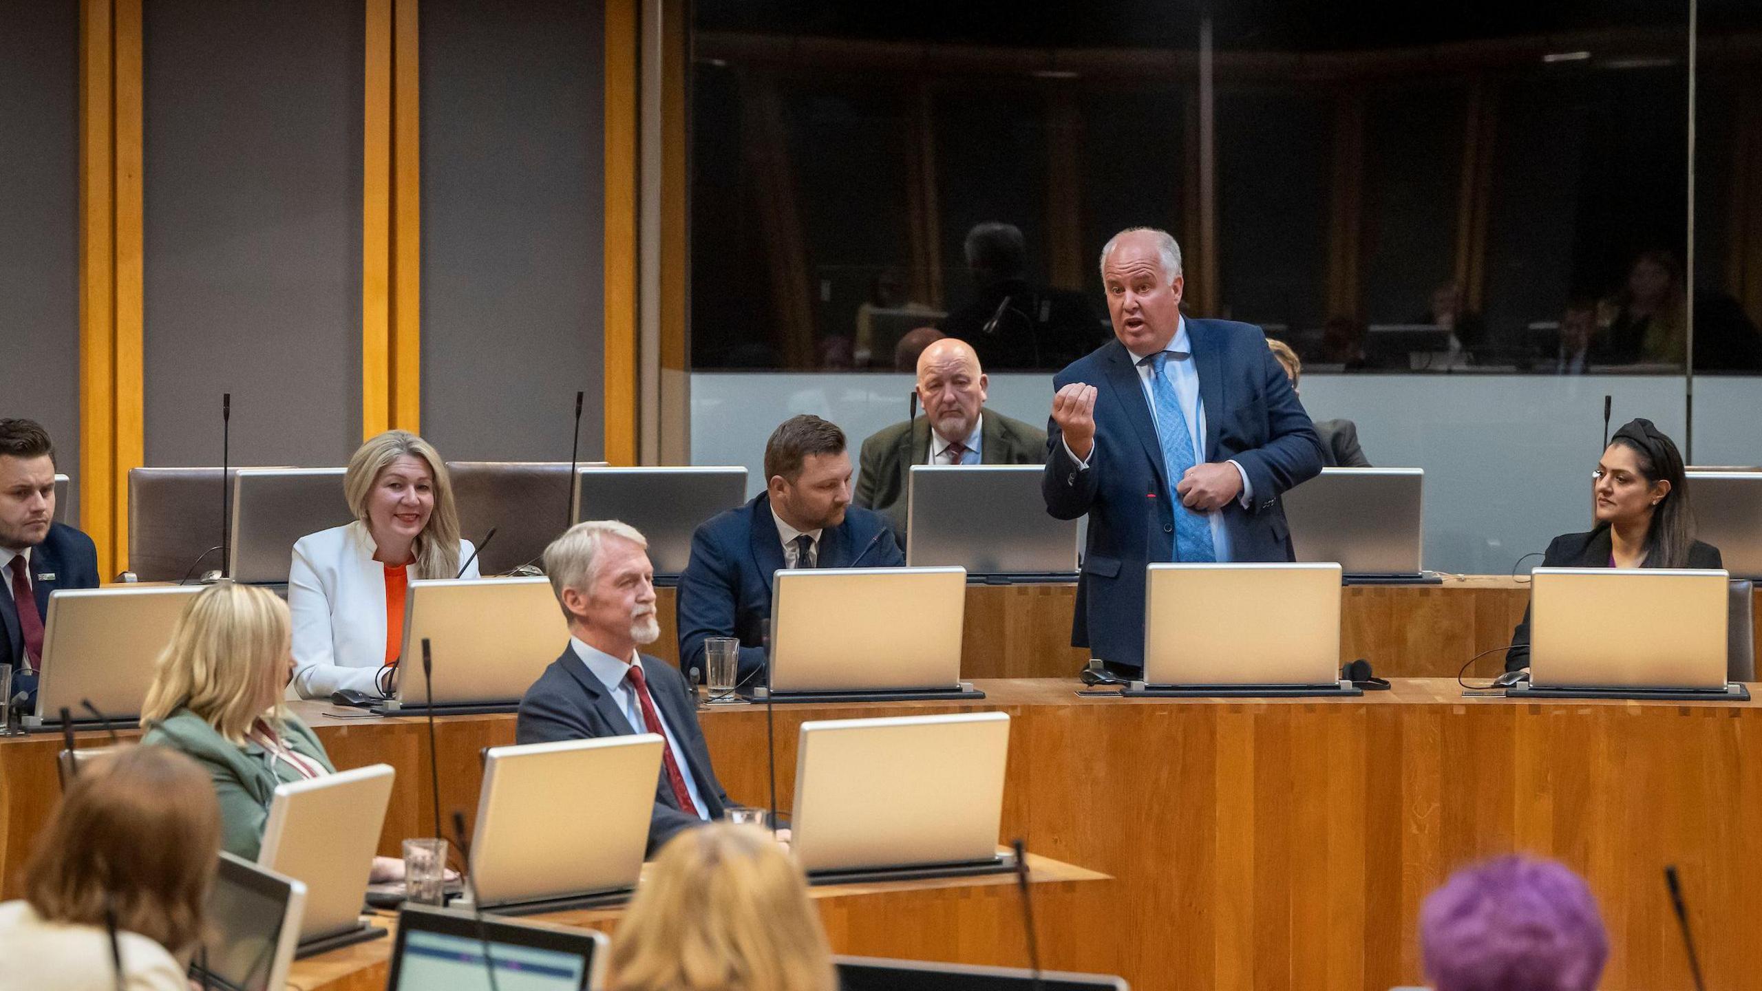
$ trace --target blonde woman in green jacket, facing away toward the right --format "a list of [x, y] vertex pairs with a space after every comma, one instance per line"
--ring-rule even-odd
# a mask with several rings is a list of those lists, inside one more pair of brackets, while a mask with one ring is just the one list
[[[199, 592], [171, 631], [146, 693], [144, 744], [194, 758], [220, 801], [220, 845], [257, 859], [275, 786], [335, 774], [317, 734], [282, 704], [292, 677], [287, 603], [252, 585]], [[374, 857], [374, 880], [398, 880], [403, 861]]]

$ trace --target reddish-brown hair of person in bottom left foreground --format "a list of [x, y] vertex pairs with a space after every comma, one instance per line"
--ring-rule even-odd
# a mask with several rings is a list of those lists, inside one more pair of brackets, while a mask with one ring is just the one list
[[79, 767], [37, 836], [25, 899], [51, 922], [113, 919], [178, 954], [201, 936], [218, 857], [208, 774], [174, 749], [129, 746]]

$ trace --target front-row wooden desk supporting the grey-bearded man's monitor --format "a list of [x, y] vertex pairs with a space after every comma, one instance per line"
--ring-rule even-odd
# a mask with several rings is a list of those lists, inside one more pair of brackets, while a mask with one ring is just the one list
[[[1027, 855], [1027, 864], [1041, 940], [1057, 924], [1078, 883], [1108, 880], [1107, 875], [1034, 853]], [[976, 942], [1025, 954], [1015, 875], [825, 885], [809, 889], [809, 894], [837, 954], [959, 959], [962, 945]], [[624, 919], [624, 908], [553, 912], [530, 919], [610, 935]], [[294, 961], [289, 986], [301, 991], [384, 991], [396, 917], [374, 917], [374, 924], [389, 929], [391, 936]]]

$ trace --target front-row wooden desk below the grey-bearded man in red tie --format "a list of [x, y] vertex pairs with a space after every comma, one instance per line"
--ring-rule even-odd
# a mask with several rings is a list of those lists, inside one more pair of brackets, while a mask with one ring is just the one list
[[[1057, 898], [1062, 890], [1070, 890], [1070, 885], [1080, 882], [1110, 880], [1107, 875], [1034, 853], [1027, 855], [1027, 864], [1029, 882], [1036, 885], [1034, 896], [1038, 899]], [[909, 956], [913, 952], [911, 947], [916, 943], [916, 913], [902, 912], [902, 908], [913, 899], [951, 903], [957, 905], [959, 912], [960, 901], [973, 901], [971, 889], [1001, 887], [1004, 890], [985, 892], [990, 896], [985, 908], [997, 910], [1003, 917], [1008, 917], [1015, 908], [1011, 885], [1015, 885], [1015, 875], [985, 875], [971, 878], [819, 885], [809, 889], [809, 894], [821, 910], [828, 936], [833, 933], [846, 935], [853, 926], [869, 933], [890, 933], [886, 938], [895, 940], [895, 945], [900, 947], [895, 950], [895, 956]], [[1001, 905], [997, 901], [999, 896], [1003, 898]], [[969, 915], [981, 915], [981, 912], [973, 912], [973, 908], [976, 906], [966, 906]], [[557, 926], [604, 929], [610, 933], [622, 917], [624, 908], [620, 906], [552, 912], [527, 919]], [[289, 987], [301, 991], [384, 991], [386, 968], [393, 940], [398, 933], [398, 920], [393, 913], [377, 913], [370, 920], [388, 929], [388, 938], [354, 943], [340, 950], [294, 961], [294, 966], [287, 973]], [[846, 952], [837, 940], [833, 940], [832, 949], [833, 952]]]

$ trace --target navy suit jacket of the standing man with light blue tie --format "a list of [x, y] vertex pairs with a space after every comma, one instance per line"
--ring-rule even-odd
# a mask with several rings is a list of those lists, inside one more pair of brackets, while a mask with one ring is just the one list
[[[1255, 501], [1221, 511], [1235, 561], [1293, 561], [1279, 503], [1293, 485], [1322, 474], [1322, 441], [1258, 326], [1188, 319], [1205, 406], [1203, 462], [1242, 466]], [[1047, 425], [1047, 511], [1061, 520], [1089, 513], [1089, 547], [1077, 580], [1071, 645], [1115, 665], [1144, 667], [1144, 575], [1173, 559], [1175, 485], [1163, 466], [1156, 420], [1136, 361], [1119, 340], [1054, 376], [1054, 388], [1096, 386], [1096, 437], [1089, 469], [1064, 451]]]

